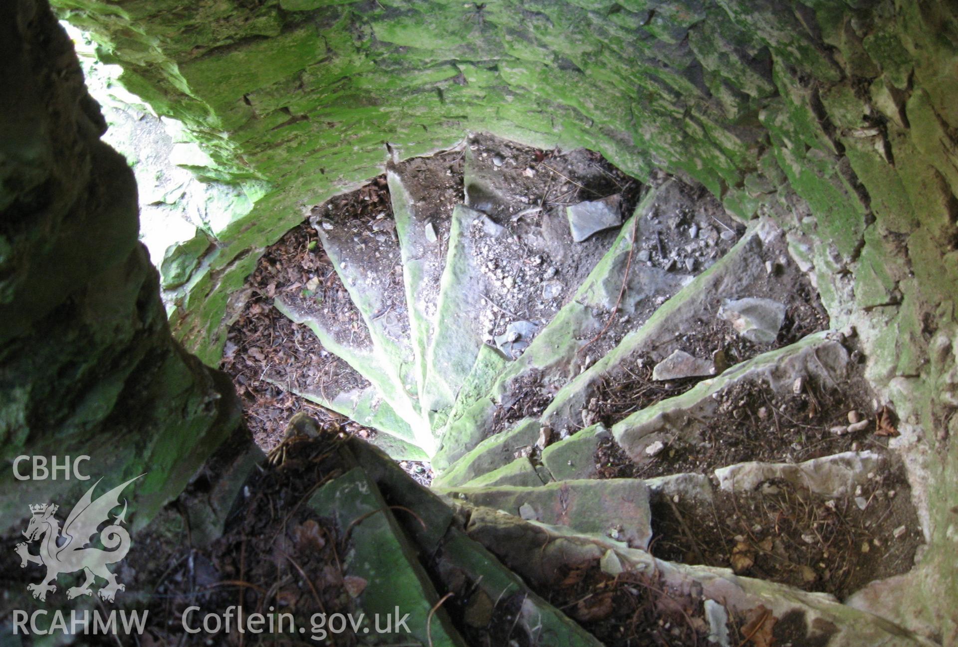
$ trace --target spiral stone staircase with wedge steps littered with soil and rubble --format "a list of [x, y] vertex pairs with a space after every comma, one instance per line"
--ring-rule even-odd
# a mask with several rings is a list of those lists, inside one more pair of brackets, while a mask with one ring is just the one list
[[[348, 293], [361, 325], [348, 334], [337, 327], [319, 290], [277, 296], [275, 307], [314, 333], [314, 351], [354, 371], [293, 389], [375, 429], [374, 444], [394, 459], [430, 461], [436, 474], [430, 489], [413, 486], [396, 462], [352, 442], [363, 469], [324, 486], [316, 504], [349, 526], [366, 508], [344, 502], [378, 488], [419, 521], [401, 524], [402, 513], [383, 510], [394, 523], [355, 537], [354, 563], [373, 560], [383, 541], [398, 554], [432, 556], [426, 606], [438, 601], [434, 584], [461, 595], [459, 629], [442, 615], [447, 644], [488, 626], [500, 602], [520, 594], [521, 610], [509, 617], [521, 631], [510, 639], [619, 644], [608, 623], [621, 618], [610, 608], [546, 601], [582, 565], [607, 580], [660, 577], [696, 616], [699, 636], [721, 645], [748, 644], [753, 629], [774, 644], [922, 644], [854, 604], [809, 592], [863, 568], [848, 571], [849, 559], [899, 561], [877, 577], [910, 568], [920, 529], [901, 465], [875, 435], [880, 403], [865, 386], [855, 331], [828, 328], [801, 239], [770, 217], [741, 223], [706, 191], [664, 175], [634, 191], [634, 209], [615, 214], [629, 203], [600, 194], [595, 182], [608, 172], [587, 151], [545, 155], [473, 135], [436, 158], [390, 165], [391, 204], [368, 220], [337, 217], [331, 204], [312, 210], [316, 253], [336, 273], [320, 278]], [[461, 158], [460, 175], [450, 169]], [[538, 173], [594, 199], [550, 208], [535, 187], [513, 184]], [[874, 552], [866, 558], [855, 544], [839, 572], [826, 547], [819, 564], [767, 574], [751, 569], [756, 551], [788, 558], [778, 538], [772, 548], [771, 528], [755, 525], [744, 527], [754, 543], [738, 537], [703, 557], [717, 509], [738, 519], [739, 505], [780, 487], [802, 505], [863, 515], [875, 538], [863, 550]], [[797, 515], [794, 505], [779, 518]], [[806, 521], [791, 532], [814, 543], [822, 522]], [[653, 556], [673, 540], [685, 555]], [[909, 542], [910, 552], [896, 548]], [[415, 558], [400, 562], [411, 581], [429, 580]], [[716, 568], [729, 565], [734, 572]], [[393, 588], [397, 568], [378, 573], [384, 587]], [[375, 571], [362, 576], [376, 581]], [[398, 589], [411, 599], [411, 589]], [[754, 621], [764, 612], [772, 619], [763, 629]], [[755, 626], [741, 632], [749, 618]], [[731, 638], [730, 627], [738, 627]], [[441, 644], [435, 626], [426, 637]], [[760, 639], [754, 644], [772, 644]]]

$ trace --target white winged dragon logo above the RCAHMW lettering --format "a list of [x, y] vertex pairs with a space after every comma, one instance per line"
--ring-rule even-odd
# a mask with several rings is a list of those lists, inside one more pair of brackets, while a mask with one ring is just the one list
[[[110, 572], [106, 565], [116, 564], [126, 556], [129, 550], [129, 533], [121, 525], [126, 523], [124, 519], [126, 500], [123, 503], [123, 512], [113, 517], [115, 523], [100, 530], [100, 541], [103, 547], [109, 549], [103, 550], [87, 547], [87, 545], [97, 534], [97, 527], [104, 521], [109, 521], [110, 510], [120, 504], [120, 493], [127, 485], [139, 478], [127, 480], [93, 501], [93, 490], [100, 483], [98, 480], [73, 506], [73, 510], [66, 518], [62, 533], [60, 533], [59, 522], [54, 516], [59, 506], [53, 503], [30, 506], [34, 516], [30, 518], [27, 529], [23, 531], [27, 541], [17, 544], [14, 550], [22, 560], [21, 569], [26, 568], [28, 563], [47, 567], [47, 574], [42, 581], [27, 585], [27, 590], [32, 591], [35, 598], [45, 601], [47, 593], [57, 591], [57, 575], [76, 572], [80, 569], [85, 572], [86, 581], [79, 587], [68, 589], [66, 591], [68, 599], [72, 600], [78, 595], [92, 594], [90, 585], [94, 583], [94, 576], [106, 580], [106, 586], [101, 587], [97, 592], [107, 602], [113, 601], [117, 591], [125, 590], [125, 585], [117, 582], [116, 575]], [[39, 554], [31, 554], [28, 551], [28, 544], [41, 538]]]

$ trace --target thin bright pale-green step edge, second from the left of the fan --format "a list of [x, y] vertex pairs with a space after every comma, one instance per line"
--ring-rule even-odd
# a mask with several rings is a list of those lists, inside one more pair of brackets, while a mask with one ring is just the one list
[[[422, 452], [427, 456], [434, 451], [435, 440], [431, 432], [429, 432], [424, 425], [415, 425], [411, 430], [412, 437], [402, 436], [405, 430], [410, 427], [408, 421], [420, 419], [419, 412], [412, 407], [402, 385], [394, 379], [395, 376], [391, 375], [388, 369], [382, 368], [379, 364], [380, 358], [374, 351], [368, 335], [363, 335], [362, 333], [355, 335], [353, 340], [354, 344], [351, 344], [350, 338], [344, 337], [341, 331], [331, 330], [329, 323], [327, 323], [328, 315], [326, 313], [307, 309], [301, 304], [287, 303], [284, 299], [280, 298], [277, 298], [273, 304], [292, 322], [307, 325], [326, 350], [342, 358], [350, 367], [354, 368], [359, 375], [369, 380], [373, 389], [376, 390], [378, 397], [389, 405], [393, 414], [399, 419], [406, 421], [405, 427], [400, 425], [384, 425], [383, 431], [391, 431], [403, 440], [419, 446]], [[362, 323], [359, 322], [357, 325], [362, 325]], [[364, 341], [365, 345], [360, 346]], [[357, 396], [359, 395], [360, 394], [357, 394]], [[371, 404], [376, 402], [377, 399], [372, 393], [362, 397], [368, 398]], [[329, 400], [329, 398], [322, 399]], [[324, 403], [320, 402], [320, 404]], [[345, 404], [347, 403], [344, 403], [344, 405]], [[327, 405], [324, 404], [324, 406]], [[330, 408], [333, 409], [333, 411], [338, 411], [333, 407]], [[390, 415], [388, 412], [383, 412], [383, 415], [386, 418], [393, 417], [393, 415]]]

